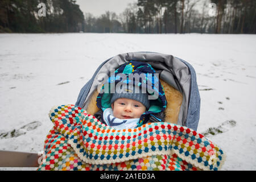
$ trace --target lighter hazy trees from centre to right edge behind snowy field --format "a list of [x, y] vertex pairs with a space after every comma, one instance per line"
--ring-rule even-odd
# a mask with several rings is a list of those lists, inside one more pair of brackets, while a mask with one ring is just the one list
[[138, 0], [119, 16], [85, 14], [85, 31], [255, 34], [255, 13], [254, 0]]

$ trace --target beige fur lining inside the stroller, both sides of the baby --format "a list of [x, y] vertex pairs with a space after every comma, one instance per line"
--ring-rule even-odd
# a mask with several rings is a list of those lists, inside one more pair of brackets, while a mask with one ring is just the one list
[[[164, 88], [164, 93], [166, 94], [166, 100], [167, 100], [166, 110], [164, 110], [164, 114], [166, 114], [164, 121], [168, 123], [176, 124], [177, 119], [179, 117], [179, 111], [180, 111], [180, 106], [182, 103], [183, 96], [178, 90], [176, 90], [175, 88], [167, 84], [165, 81], [160, 79], [160, 82]], [[93, 92], [92, 96], [90, 97], [88, 108], [86, 109], [86, 112], [88, 114], [94, 115], [97, 111], [100, 110], [96, 105], [97, 96], [98, 96], [98, 91], [96, 89]]]

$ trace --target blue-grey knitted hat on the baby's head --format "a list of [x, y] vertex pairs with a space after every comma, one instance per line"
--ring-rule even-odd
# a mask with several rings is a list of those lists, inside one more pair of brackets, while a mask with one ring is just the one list
[[[113, 95], [112, 95], [110, 104], [112, 104], [118, 98], [129, 98], [131, 100], [141, 102], [141, 104], [143, 104], [146, 107], [146, 109], [148, 109], [150, 107], [150, 101], [148, 100], [148, 94], [142, 93], [141, 88], [136, 88], [136, 89], [135, 89], [135, 86], [132, 86], [132, 88], [131, 87], [115, 88], [115, 93], [113, 93]], [[137, 91], [137, 92], [135, 92], [135, 91]]]

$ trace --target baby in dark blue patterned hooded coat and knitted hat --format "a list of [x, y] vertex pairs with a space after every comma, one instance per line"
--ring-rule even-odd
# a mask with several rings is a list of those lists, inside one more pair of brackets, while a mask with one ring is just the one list
[[[121, 65], [115, 73], [133, 74], [148, 72], [155, 73], [151, 65], [138, 61], [129, 61]], [[141, 86], [142, 81], [148, 83], [148, 80], [147, 77], [142, 77], [139, 82], [135, 82], [132, 86], [127, 85], [128, 88], [119, 88], [116, 86], [119, 80], [115, 81], [114, 93], [98, 94], [97, 106], [101, 110], [94, 114], [94, 116], [102, 123], [115, 129], [133, 129], [141, 126], [143, 123], [163, 121], [163, 110], [166, 107], [167, 101], [162, 85], [155, 78], [154, 82], [159, 82], [160, 90], [159, 88], [155, 88], [154, 92], [160, 91], [160, 94], [158, 94], [159, 98], [149, 100], [148, 90], [146, 93], [142, 92]], [[150, 88], [150, 86], [147, 88]]]

